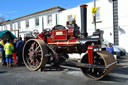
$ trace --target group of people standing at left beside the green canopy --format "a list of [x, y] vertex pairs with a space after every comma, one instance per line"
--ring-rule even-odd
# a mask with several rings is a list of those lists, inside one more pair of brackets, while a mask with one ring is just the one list
[[[0, 55], [2, 66], [11, 67], [12, 65], [22, 66], [22, 49], [24, 46], [22, 37], [18, 40], [1, 39], [0, 40]], [[14, 64], [12, 64], [14, 63]]]

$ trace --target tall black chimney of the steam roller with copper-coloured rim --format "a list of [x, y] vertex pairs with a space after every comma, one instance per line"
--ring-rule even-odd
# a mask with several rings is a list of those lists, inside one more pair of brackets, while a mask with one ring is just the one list
[[88, 5], [80, 5], [81, 9], [81, 38], [87, 38], [87, 7]]

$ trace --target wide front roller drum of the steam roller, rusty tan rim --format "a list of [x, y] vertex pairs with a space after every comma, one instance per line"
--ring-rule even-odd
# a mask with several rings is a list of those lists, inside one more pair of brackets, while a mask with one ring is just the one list
[[[115, 62], [114, 56], [107, 51], [99, 51], [93, 53], [93, 64], [97, 66], [107, 66]], [[85, 54], [81, 63], [88, 64], [88, 54]], [[81, 68], [82, 72], [89, 78], [99, 80], [111, 72], [116, 64], [112, 64], [108, 69], [105, 68]]]

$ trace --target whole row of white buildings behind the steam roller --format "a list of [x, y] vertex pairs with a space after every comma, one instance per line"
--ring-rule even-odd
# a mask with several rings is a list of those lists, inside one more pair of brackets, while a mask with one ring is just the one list
[[[111, 0], [96, 0], [96, 28], [104, 31], [104, 39], [113, 43], [113, 4]], [[119, 20], [119, 45], [127, 48], [128, 37], [128, 9], [127, 0], [118, 0], [118, 20]], [[87, 31], [91, 35], [95, 31], [94, 19], [92, 14], [93, 2], [87, 3]], [[19, 30], [19, 36], [28, 36], [33, 30], [39, 33], [45, 28], [54, 27], [57, 24], [66, 26], [66, 22], [76, 19], [76, 23], [81, 27], [80, 6], [67, 9], [61, 7], [53, 7], [40, 12], [19, 17], [14, 20], [6, 21], [0, 26], [0, 30]], [[17, 34], [17, 33], [15, 33]]]

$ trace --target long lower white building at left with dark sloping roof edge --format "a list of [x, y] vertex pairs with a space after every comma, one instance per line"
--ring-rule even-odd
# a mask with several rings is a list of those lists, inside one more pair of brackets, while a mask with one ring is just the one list
[[51, 28], [58, 24], [58, 13], [65, 10], [61, 7], [53, 7], [32, 13], [26, 16], [8, 20], [1, 24], [0, 30], [10, 30], [16, 35], [19, 31], [21, 37], [32, 36], [34, 30], [42, 32], [45, 28]]

